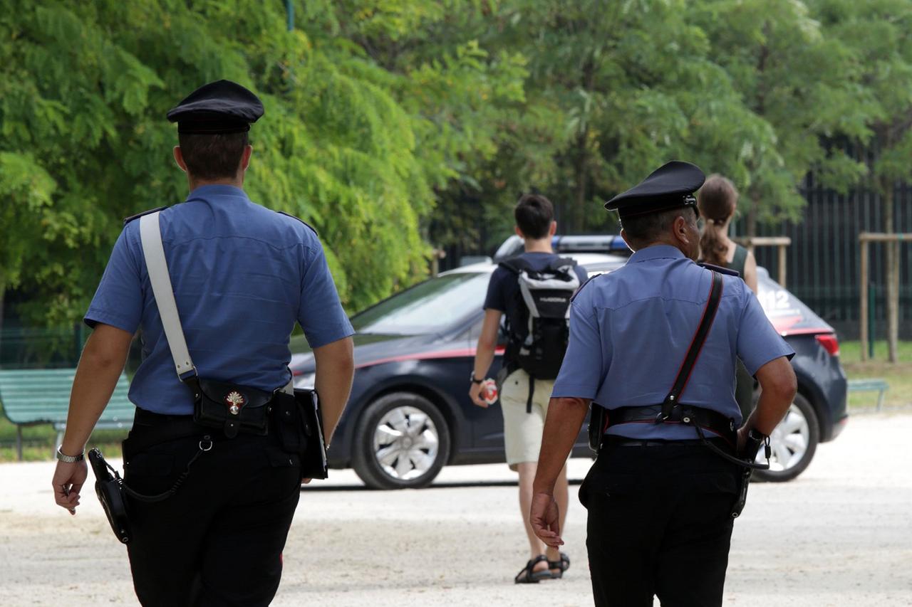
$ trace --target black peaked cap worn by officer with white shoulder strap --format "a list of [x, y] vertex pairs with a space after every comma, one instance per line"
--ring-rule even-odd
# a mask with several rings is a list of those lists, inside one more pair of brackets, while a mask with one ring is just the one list
[[202, 135], [243, 133], [261, 116], [260, 99], [231, 80], [202, 85], [168, 112], [177, 132]]

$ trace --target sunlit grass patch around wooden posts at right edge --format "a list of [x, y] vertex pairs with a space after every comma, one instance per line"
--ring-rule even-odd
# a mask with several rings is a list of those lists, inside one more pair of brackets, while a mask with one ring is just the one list
[[[912, 342], [899, 342], [897, 363], [886, 360], [886, 342], [875, 342], [874, 359], [861, 362], [860, 342], [840, 342], [839, 357], [849, 379], [884, 379], [890, 389], [884, 395], [884, 406], [907, 406], [912, 403]], [[850, 408], [876, 406], [876, 392], [850, 392]]]

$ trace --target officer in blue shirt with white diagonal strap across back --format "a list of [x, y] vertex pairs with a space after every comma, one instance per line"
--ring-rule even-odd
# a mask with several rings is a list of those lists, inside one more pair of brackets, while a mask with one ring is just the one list
[[[351, 387], [354, 331], [316, 232], [254, 203], [242, 189], [252, 153], [248, 130], [262, 115], [251, 91], [225, 80], [197, 89], [169, 112], [180, 140], [174, 159], [187, 173], [190, 195], [161, 211], [161, 241], [198, 375], [273, 393], [290, 379], [289, 337], [300, 323], [316, 356], [328, 441]], [[55, 499], [75, 513], [87, 477], [86, 442], [141, 329], [125, 481], [156, 494], [189, 474], [167, 499], [128, 503], [137, 596], [143, 605], [267, 605], [300, 496], [300, 458], [282, 448], [275, 431], [229, 438], [194, 425], [194, 395], [175, 374], [140, 221], [133, 219], [85, 316], [94, 331], [73, 382]]]

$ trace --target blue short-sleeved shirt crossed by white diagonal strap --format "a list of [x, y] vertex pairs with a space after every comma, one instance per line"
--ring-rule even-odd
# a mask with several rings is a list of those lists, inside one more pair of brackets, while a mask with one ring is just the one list
[[[200, 376], [275, 390], [289, 379], [295, 321], [312, 347], [354, 334], [316, 233], [254, 204], [244, 190], [208, 185], [161, 211], [174, 299]], [[142, 363], [130, 400], [156, 413], [192, 413], [174, 370], [140, 243], [124, 226], [86, 313], [89, 326], [142, 327]]]

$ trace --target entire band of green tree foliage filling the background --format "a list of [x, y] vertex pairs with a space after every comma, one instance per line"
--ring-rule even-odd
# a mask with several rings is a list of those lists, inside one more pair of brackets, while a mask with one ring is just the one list
[[912, 0], [294, 6], [287, 31], [280, 0], [0, 0], [0, 293], [78, 318], [120, 218], [185, 196], [165, 112], [221, 77], [266, 107], [246, 189], [316, 226], [352, 311], [431, 245], [490, 251], [521, 191], [562, 231], [615, 230], [602, 202], [690, 159], [752, 229], [800, 219], [809, 170], [886, 199], [912, 177]]

